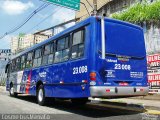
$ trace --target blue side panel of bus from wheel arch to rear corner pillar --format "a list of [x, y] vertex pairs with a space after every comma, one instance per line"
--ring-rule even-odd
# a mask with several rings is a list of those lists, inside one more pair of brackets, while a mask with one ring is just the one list
[[[36, 95], [36, 85], [41, 81], [45, 88], [46, 97], [80, 98], [89, 97], [89, 42], [90, 25], [85, 27], [84, 58], [69, 60], [35, 68], [31, 73], [29, 94]], [[26, 72], [29, 76], [30, 72]], [[83, 83], [87, 81], [87, 83]]]

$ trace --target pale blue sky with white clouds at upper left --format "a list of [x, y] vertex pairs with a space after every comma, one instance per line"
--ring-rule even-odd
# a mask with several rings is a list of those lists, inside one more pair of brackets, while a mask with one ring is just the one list
[[[20, 25], [34, 10], [44, 3], [46, 3], [46, 0], [0, 0], [0, 37]], [[17, 36], [19, 33], [34, 33], [74, 17], [75, 11], [50, 4], [35, 14], [19, 30], [0, 39], [0, 49], [10, 48], [12, 36]]]

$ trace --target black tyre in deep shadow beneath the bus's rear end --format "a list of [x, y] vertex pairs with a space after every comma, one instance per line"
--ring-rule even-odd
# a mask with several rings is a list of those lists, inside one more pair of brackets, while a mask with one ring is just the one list
[[88, 98], [74, 98], [71, 99], [72, 104], [85, 105], [88, 102]]

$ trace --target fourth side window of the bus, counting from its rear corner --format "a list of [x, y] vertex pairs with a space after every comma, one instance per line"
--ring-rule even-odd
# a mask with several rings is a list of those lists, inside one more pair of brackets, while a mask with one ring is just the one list
[[34, 52], [33, 67], [39, 67], [42, 62], [42, 49], [39, 48]]

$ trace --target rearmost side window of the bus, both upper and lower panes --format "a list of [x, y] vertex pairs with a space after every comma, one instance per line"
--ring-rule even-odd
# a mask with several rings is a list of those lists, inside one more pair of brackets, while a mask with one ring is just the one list
[[84, 30], [73, 33], [71, 58], [84, 56]]

